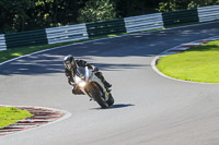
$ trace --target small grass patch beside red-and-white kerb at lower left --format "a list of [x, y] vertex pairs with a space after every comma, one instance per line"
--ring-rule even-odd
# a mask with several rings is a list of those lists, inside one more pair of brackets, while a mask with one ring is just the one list
[[26, 110], [21, 110], [14, 107], [2, 107], [0, 108], [0, 129], [32, 116], [33, 114]]

